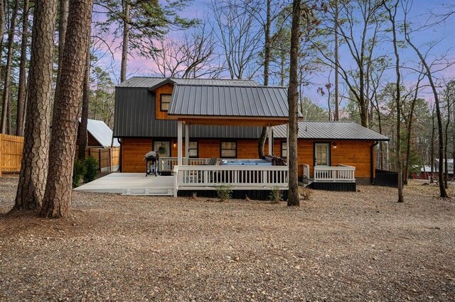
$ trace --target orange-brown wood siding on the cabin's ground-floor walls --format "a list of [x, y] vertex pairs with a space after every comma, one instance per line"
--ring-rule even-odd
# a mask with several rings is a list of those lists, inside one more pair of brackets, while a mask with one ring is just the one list
[[[177, 156], [176, 138], [159, 138], [156, 140], [171, 141], [171, 156]], [[194, 139], [198, 142], [198, 157], [211, 158], [220, 157], [220, 139]], [[193, 141], [193, 140], [191, 140]], [[226, 140], [228, 141], [228, 140]], [[237, 141], [237, 158], [257, 158], [257, 140], [235, 140]], [[277, 157], [282, 156], [281, 142], [274, 140], [273, 153]], [[310, 174], [314, 173], [314, 142], [315, 140], [299, 140], [299, 176], [303, 175], [302, 164], [309, 164]], [[336, 142], [336, 149], [333, 148]], [[370, 147], [374, 144], [368, 140], [336, 140], [331, 142], [331, 165], [346, 164], [355, 167], [356, 178], [370, 177]], [[124, 138], [122, 142], [122, 172], [144, 172], [145, 164], [142, 158], [153, 146], [152, 139]], [[266, 142], [265, 153], [268, 151]], [[183, 156], [185, 150], [183, 149]], [[374, 162], [374, 161], [373, 161]]]

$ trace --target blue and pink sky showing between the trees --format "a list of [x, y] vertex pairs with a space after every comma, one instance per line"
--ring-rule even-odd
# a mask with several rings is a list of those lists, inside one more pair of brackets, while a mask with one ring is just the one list
[[[162, 1], [162, 0], [161, 0]], [[195, 0], [191, 6], [188, 6], [182, 13], [181, 16], [188, 18], [209, 18], [210, 20], [210, 0]], [[412, 9], [410, 11], [410, 20], [414, 23], [414, 26], [418, 26], [424, 20], [427, 20], [428, 13], [430, 11], [435, 13], [446, 12], [448, 6], [455, 6], [455, 0], [414, 0]], [[99, 17], [100, 18], [100, 17]], [[397, 15], [397, 20], [402, 21], [402, 14]], [[178, 36], [181, 33], [171, 33], [171, 35]], [[421, 51], [426, 51], [428, 46], [426, 43], [430, 43], [434, 40], [439, 40], [439, 44], [432, 49], [433, 57], [439, 57], [446, 54], [452, 62], [455, 61], [455, 16], [447, 19], [446, 22], [435, 26], [429, 30], [419, 32], [413, 37], [414, 43], [419, 45]], [[118, 79], [119, 66], [121, 60], [121, 48], [119, 47], [120, 41], [114, 41], [112, 49], [114, 49], [114, 56], [107, 56], [103, 61], [105, 64], [112, 66], [113, 70], [117, 70], [116, 78]], [[385, 42], [380, 47], [379, 52], [390, 55], [392, 57], [392, 43]], [[417, 56], [414, 51], [407, 47], [400, 50], [401, 61], [405, 66], [412, 66], [414, 62], [417, 62]], [[340, 60], [342, 65], [354, 66], [352, 59], [348, 53], [346, 47], [341, 46], [340, 49]], [[115, 73], [115, 72], [114, 72]], [[138, 55], [130, 55], [128, 60], [128, 77], [132, 76], [147, 76], [156, 75], [156, 66], [152, 60], [140, 57]], [[438, 72], [435, 74], [439, 79], [453, 79], [455, 78], [455, 65]], [[228, 73], [223, 74], [223, 77], [229, 77]], [[304, 89], [304, 95], [308, 96], [312, 101], [319, 106], [327, 107], [326, 96], [320, 96], [317, 93], [318, 86], [323, 86], [328, 82], [329, 73], [328, 70], [321, 70], [316, 72], [313, 77], [314, 85], [306, 86]], [[333, 72], [331, 72], [331, 82], [333, 83]], [[417, 75], [410, 72], [407, 69], [403, 69], [403, 78], [405, 86], [412, 86]], [[391, 69], [385, 73], [385, 79], [390, 82], [395, 81], [395, 72]], [[262, 82], [262, 79], [258, 79], [258, 82]], [[343, 92], [343, 91], [342, 91]], [[432, 94], [429, 89], [422, 91], [422, 96], [429, 101], [432, 101]]]

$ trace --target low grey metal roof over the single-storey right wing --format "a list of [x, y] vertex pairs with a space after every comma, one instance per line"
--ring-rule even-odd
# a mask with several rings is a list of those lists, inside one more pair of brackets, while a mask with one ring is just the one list
[[[286, 138], [286, 125], [273, 128], [275, 138]], [[344, 121], [299, 122], [298, 138], [321, 140], [389, 140], [358, 123]]]

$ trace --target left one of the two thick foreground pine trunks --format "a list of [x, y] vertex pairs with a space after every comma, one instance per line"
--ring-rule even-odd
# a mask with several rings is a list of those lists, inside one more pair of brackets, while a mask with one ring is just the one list
[[54, 50], [55, 0], [37, 0], [33, 16], [21, 173], [13, 210], [41, 207], [48, 172], [48, 133]]

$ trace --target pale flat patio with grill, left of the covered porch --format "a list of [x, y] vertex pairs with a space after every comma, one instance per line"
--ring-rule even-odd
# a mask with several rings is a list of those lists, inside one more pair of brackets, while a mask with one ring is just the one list
[[173, 177], [145, 173], [112, 173], [78, 186], [75, 191], [130, 195], [173, 195]]

